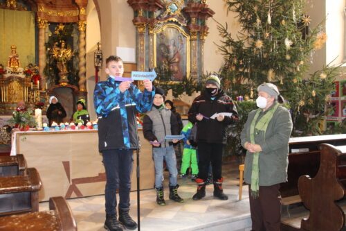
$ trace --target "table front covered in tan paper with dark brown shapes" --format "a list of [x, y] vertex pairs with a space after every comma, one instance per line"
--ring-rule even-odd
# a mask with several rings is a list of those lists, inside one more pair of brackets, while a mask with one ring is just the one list
[[[138, 131], [140, 142], [140, 189], [154, 187], [152, 147]], [[13, 142], [15, 141], [15, 144]], [[105, 173], [98, 153], [97, 130], [66, 130], [55, 132], [15, 132], [12, 153], [22, 153], [29, 167], [39, 171], [42, 189], [39, 201], [52, 196], [76, 198], [104, 194]], [[136, 190], [136, 151], [131, 176]]]

